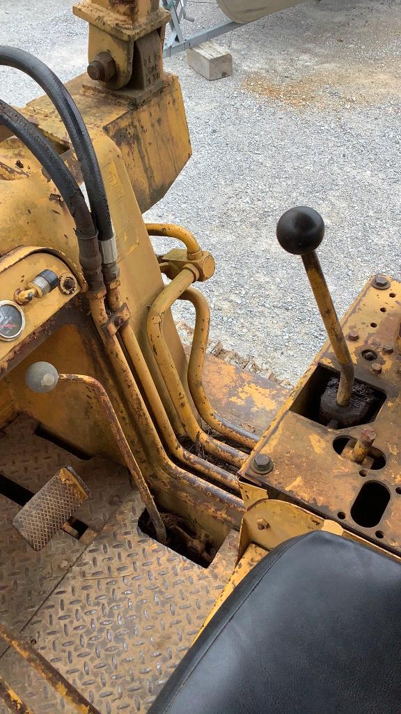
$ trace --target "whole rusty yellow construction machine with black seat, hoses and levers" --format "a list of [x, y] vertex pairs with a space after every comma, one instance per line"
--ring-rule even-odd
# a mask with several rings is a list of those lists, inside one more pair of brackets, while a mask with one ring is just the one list
[[0, 101], [1, 714], [395, 714], [401, 284], [340, 324], [290, 208], [328, 342], [292, 392], [208, 355], [213, 256], [142, 218], [191, 156], [170, 16], [74, 11], [67, 86], [0, 47], [44, 90]]

